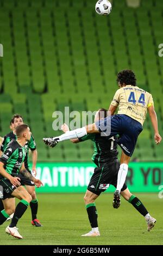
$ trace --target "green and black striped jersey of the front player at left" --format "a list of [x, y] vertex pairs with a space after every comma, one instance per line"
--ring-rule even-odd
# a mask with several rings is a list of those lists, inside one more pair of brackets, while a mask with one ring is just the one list
[[[14, 176], [24, 162], [26, 150], [15, 139], [13, 139], [5, 148], [3, 155], [0, 157], [0, 162], [4, 163], [4, 169], [7, 173]], [[4, 178], [0, 175], [0, 179]]]

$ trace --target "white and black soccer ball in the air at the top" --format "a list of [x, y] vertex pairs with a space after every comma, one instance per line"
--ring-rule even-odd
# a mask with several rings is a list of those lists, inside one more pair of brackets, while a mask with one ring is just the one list
[[109, 15], [111, 12], [111, 3], [108, 0], [98, 0], [95, 10], [99, 15]]

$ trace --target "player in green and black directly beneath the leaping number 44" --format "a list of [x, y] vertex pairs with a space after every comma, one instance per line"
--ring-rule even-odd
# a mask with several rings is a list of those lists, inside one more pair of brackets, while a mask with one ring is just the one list
[[[101, 108], [97, 111], [95, 116], [95, 121], [105, 118], [107, 111]], [[66, 124], [61, 126], [61, 129], [66, 132], [69, 131]], [[117, 186], [118, 170], [120, 167], [120, 162], [117, 159], [117, 142], [115, 137], [106, 138], [97, 133], [92, 133], [85, 135], [84, 137], [78, 139], [71, 139], [73, 143], [84, 142], [88, 139], [94, 144], [94, 154], [92, 156], [92, 161], [96, 164], [95, 172], [93, 173], [89, 185], [87, 186], [87, 191], [84, 196], [85, 206], [92, 230], [82, 236], [99, 236], [98, 223], [97, 223], [97, 210], [95, 200], [104, 192], [110, 184]], [[137, 211], [142, 214], [147, 221], [147, 230], [150, 231], [154, 227], [155, 219], [151, 217], [146, 210], [145, 206], [135, 197], [127, 188], [124, 183], [121, 195], [129, 203], [131, 203]], [[118, 208], [118, 205], [113, 203], [114, 208]]]

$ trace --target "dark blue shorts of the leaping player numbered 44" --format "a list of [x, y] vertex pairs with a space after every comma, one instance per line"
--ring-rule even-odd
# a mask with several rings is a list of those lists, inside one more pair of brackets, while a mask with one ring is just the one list
[[95, 124], [97, 129], [101, 131], [101, 135], [109, 138], [120, 135], [120, 139], [117, 141], [118, 145], [126, 155], [131, 156], [133, 154], [137, 137], [143, 130], [141, 123], [128, 115], [117, 114], [98, 120]]

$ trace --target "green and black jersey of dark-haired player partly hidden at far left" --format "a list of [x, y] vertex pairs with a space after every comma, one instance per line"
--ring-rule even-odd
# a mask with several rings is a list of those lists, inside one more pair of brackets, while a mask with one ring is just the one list
[[[10, 141], [12, 141], [12, 139], [16, 139], [16, 135], [14, 134], [14, 132], [10, 132], [10, 133], [8, 133], [7, 135], [4, 136], [4, 140], [3, 140], [3, 143], [1, 145], [1, 151], [2, 152], [4, 152], [8, 143]], [[29, 149], [32, 150], [32, 151], [36, 149], [36, 143], [35, 143], [34, 137], [32, 135], [30, 136], [30, 141], [26, 143], [25, 148], [26, 148], [26, 157], [24, 159], [24, 166], [29, 171], [30, 170]]]

